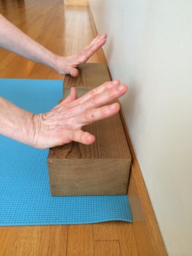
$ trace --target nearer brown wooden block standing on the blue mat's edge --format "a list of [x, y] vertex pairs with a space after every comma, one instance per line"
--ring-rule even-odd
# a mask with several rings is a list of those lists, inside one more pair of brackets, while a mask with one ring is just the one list
[[[77, 88], [82, 95], [88, 88]], [[68, 95], [70, 88], [64, 88]], [[126, 195], [131, 155], [120, 115], [86, 125], [92, 145], [68, 143], [51, 148], [47, 158], [51, 195]]]

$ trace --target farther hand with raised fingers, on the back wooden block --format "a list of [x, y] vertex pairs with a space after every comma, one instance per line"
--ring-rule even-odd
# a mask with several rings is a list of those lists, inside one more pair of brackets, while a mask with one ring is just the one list
[[98, 35], [93, 41], [86, 45], [84, 49], [72, 56], [56, 57], [56, 70], [61, 75], [70, 74], [73, 77], [78, 76], [77, 66], [85, 63], [102, 45], [106, 43], [107, 35]]

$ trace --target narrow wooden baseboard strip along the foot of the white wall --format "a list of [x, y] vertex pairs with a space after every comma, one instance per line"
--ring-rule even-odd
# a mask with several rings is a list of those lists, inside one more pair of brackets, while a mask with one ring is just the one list
[[[92, 25], [93, 36], [98, 34], [92, 11], [88, 3], [88, 12], [90, 13], [90, 22]], [[102, 53], [104, 55], [104, 52]], [[106, 60], [106, 58], [104, 57]], [[105, 61], [107, 64], [107, 60]], [[110, 72], [109, 72], [110, 73]], [[131, 152], [131, 175], [127, 195], [129, 196], [129, 204], [133, 219], [134, 235], [138, 245], [139, 254], [142, 256], [165, 256], [167, 255], [164, 247], [163, 238], [157, 224], [156, 216], [148, 196], [148, 191], [143, 180], [140, 165], [132, 146], [129, 129], [125, 122], [122, 108], [120, 109], [120, 117], [124, 126], [125, 136]]]

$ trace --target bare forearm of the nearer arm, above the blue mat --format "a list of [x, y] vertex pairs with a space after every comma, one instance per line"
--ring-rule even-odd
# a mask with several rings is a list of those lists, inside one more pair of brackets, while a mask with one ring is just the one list
[[34, 115], [0, 97], [0, 134], [33, 145]]

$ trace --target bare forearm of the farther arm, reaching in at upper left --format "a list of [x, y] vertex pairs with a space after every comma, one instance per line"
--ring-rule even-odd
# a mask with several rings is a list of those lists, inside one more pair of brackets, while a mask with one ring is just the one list
[[56, 54], [38, 44], [0, 14], [0, 47], [56, 69]]

